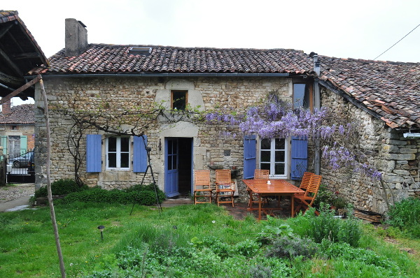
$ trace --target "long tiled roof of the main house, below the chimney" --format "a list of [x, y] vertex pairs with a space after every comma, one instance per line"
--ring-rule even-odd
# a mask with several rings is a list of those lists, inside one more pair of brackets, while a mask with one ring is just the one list
[[77, 57], [64, 50], [50, 57], [43, 73], [307, 73], [311, 59], [298, 50], [152, 47], [151, 54], [129, 54], [133, 45], [90, 44]]

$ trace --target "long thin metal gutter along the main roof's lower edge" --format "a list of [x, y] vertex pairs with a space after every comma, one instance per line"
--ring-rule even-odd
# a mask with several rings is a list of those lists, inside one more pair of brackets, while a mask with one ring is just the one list
[[[303, 75], [303, 74], [302, 74]], [[42, 74], [43, 78], [94, 78], [94, 77], [141, 77], [141, 78], [165, 78], [165, 77], [289, 77], [290, 73], [58, 73]], [[296, 75], [299, 76], [299, 75]], [[304, 75], [307, 76], [307, 75]], [[35, 78], [35, 75], [25, 76]]]

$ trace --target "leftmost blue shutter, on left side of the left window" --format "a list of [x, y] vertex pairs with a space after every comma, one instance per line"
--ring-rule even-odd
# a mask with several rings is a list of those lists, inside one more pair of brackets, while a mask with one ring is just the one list
[[86, 136], [86, 172], [97, 173], [102, 170], [102, 136], [87, 134]]

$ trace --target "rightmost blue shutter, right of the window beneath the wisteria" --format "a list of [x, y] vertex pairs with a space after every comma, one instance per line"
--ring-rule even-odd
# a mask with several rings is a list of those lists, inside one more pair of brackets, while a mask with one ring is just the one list
[[308, 168], [308, 139], [292, 137], [292, 154], [290, 164], [290, 179], [301, 180]]

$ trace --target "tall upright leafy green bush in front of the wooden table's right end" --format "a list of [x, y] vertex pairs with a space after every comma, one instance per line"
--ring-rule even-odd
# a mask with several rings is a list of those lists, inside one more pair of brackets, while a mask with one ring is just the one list
[[358, 219], [353, 217], [352, 207], [347, 207], [347, 211], [348, 219], [339, 219], [335, 218], [335, 211], [328, 210], [325, 204], [321, 204], [318, 217], [314, 214], [314, 208], [311, 208], [303, 216], [307, 220], [305, 235], [311, 237], [317, 243], [321, 243], [323, 239], [328, 239], [332, 242], [346, 242], [353, 247], [357, 247], [362, 230]]

